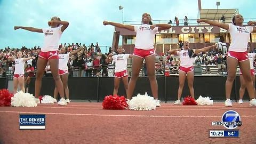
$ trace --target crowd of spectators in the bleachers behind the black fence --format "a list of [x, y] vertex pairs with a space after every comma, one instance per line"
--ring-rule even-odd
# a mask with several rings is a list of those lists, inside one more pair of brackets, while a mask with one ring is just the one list
[[[103, 54], [101, 52], [100, 46], [98, 43], [89, 46], [85, 44], [60, 44], [59, 48], [67, 47], [68, 52], [74, 51], [76, 49], [83, 48], [82, 51], [79, 51], [76, 55], [72, 55], [67, 63], [69, 68], [70, 77], [88, 77], [88, 76], [114, 76], [115, 73], [115, 63], [110, 61], [106, 63], [106, 58], [109, 53], [116, 54], [111, 47], [109, 47], [108, 53]], [[179, 44], [182, 47], [182, 43]], [[227, 66], [227, 52], [226, 52], [225, 43], [219, 43], [217, 49], [211, 50], [206, 53], [201, 53], [194, 55], [193, 62], [194, 65], [201, 65], [203, 67], [203, 73], [211, 74], [211, 68], [217, 68], [217, 75], [226, 75]], [[9, 46], [5, 47], [4, 50], [0, 50], [0, 76], [5, 76], [6, 74], [13, 74], [14, 71], [14, 62], [9, 61], [8, 57], [17, 55], [18, 51], [22, 51], [23, 57], [27, 58], [34, 56], [36, 59], [28, 60], [25, 65], [25, 73], [29, 76], [35, 76], [36, 72], [36, 62], [38, 59], [38, 54], [40, 52], [40, 47], [35, 46], [31, 49], [23, 46], [21, 49], [11, 49]], [[255, 63], [255, 61], [254, 61]], [[179, 73], [180, 60], [179, 57], [175, 55], [170, 55], [166, 53], [166, 56], [157, 56], [156, 58], [156, 74], [157, 75], [172, 75]], [[131, 66], [127, 66], [128, 68]], [[147, 75], [146, 65], [142, 67], [142, 75]], [[49, 65], [45, 68], [45, 76], [51, 76], [51, 68]]]

